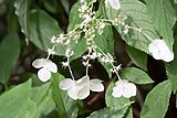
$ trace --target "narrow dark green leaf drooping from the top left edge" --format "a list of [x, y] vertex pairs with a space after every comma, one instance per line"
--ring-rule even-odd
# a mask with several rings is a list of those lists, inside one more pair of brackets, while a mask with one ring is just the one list
[[24, 33], [27, 37], [27, 43], [29, 43], [29, 0], [15, 0], [14, 2], [15, 14], [19, 18], [21, 32]]

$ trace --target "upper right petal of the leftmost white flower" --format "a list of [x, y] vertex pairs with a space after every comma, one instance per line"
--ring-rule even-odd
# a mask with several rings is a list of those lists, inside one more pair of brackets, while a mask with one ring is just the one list
[[46, 67], [49, 71], [53, 72], [53, 73], [56, 73], [56, 72], [58, 72], [58, 66], [56, 66], [56, 64], [53, 63], [53, 62], [50, 61], [50, 60], [46, 60], [46, 61], [45, 61], [45, 67]]

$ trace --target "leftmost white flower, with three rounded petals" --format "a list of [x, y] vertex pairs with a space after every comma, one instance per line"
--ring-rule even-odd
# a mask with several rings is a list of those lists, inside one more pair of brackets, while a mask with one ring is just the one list
[[38, 77], [42, 82], [46, 82], [51, 78], [51, 72], [56, 73], [58, 72], [58, 66], [50, 60], [48, 58], [37, 58], [32, 65], [35, 68], [40, 68], [38, 72]]

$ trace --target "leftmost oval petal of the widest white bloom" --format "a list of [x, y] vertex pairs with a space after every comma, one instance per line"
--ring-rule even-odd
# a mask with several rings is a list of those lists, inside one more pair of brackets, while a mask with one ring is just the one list
[[70, 89], [72, 86], [74, 86], [74, 81], [71, 78], [63, 79], [60, 82], [60, 88], [63, 90]]

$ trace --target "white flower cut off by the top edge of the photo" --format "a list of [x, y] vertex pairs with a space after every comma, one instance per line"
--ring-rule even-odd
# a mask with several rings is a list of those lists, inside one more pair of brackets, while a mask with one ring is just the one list
[[121, 8], [119, 0], [105, 0], [105, 6], [107, 8], [111, 6], [115, 10], [118, 10]]

